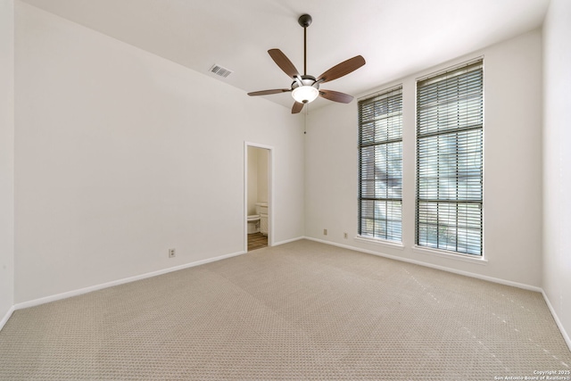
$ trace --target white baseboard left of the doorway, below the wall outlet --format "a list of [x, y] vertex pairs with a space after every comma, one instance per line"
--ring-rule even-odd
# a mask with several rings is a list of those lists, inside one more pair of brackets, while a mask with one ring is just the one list
[[55, 301], [59, 301], [62, 299], [70, 298], [72, 296], [78, 296], [81, 294], [91, 293], [93, 291], [102, 290], [103, 288], [124, 285], [126, 283], [135, 282], [136, 280], [145, 279], [147, 277], [156, 277], [156, 276], [159, 276], [162, 274], [167, 274], [167, 273], [172, 272], [172, 271], [178, 271], [179, 269], [188, 269], [188, 268], [191, 268], [194, 266], [203, 265], [205, 263], [210, 263], [213, 261], [225, 260], [227, 258], [236, 257], [237, 255], [241, 255], [244, 253], [246, 253], [246, 252], [237, 252], [237, 253], [229, 253], [229, 254], [219, 255], [218, 257], [208, 258], [206, 260], [201, 260], [201, 261], [194, 261], [194, 262], [186, 263], [184, 265], [171, 267], [169, 269], [160, 269], [157, 271], [148, 272], [146, 274], [137, 275], [135, 277], [125, 277], [123, 279], [113, 280], [112, 282], [107, 282], [107, 283], [103, 283], [100, 285], [88, 286], [85, 288], [79, 288], [78, 290], [68, 291], [68, 292], [65, 292], [62, 294], [50, 295], [50, 296], [35, 299], [32, 301], [28, 301], [28, 302], [16, 303], [12, 307], [12, 311], [21, 310], [21, 309], [29, 308], [29, 307], [35, 307], [35, 306], [40, 305], [40, 304], [45, 304], [48, 302], [55, 302]]

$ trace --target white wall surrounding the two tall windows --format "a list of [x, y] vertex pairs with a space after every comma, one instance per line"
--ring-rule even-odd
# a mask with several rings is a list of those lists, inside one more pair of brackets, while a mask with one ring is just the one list
[[[412, 250], [415, 242], [415, 80], [484, 55], [484, 255], [486, 264]], [[368, 62], [371, 64], [371, 62]], [[542, 286], [542, 33], [372, 89], [403, 86], [403, 249], [356, 241], [357, 102], [310, 112], [306, 136], [306, 236], [408, 261]], [[323, 235], [327, 228], [328, 235]], [[349, 239], [343, 239], [343, 232]]]

